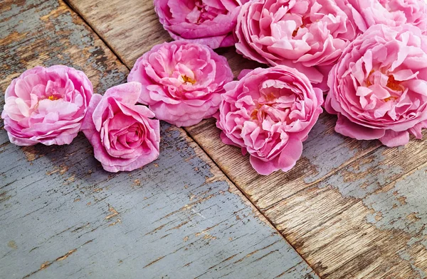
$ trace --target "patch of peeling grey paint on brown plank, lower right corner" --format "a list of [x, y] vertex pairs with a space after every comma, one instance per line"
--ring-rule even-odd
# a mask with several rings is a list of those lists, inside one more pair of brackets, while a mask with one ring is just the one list
[[[336, 188], [342, 197], [361, 200], [368, 209], [366, 221], [379, 229], [377, 235], [392, 231], [389, 243], [404, 247], [396, 253], [419, 278], [426, 278], [422, 259], [427, 255], [427, 167], [424, 163], [412, 168], [414, 163], [423, 163], [419, 158], [425, 155], [416, 142], [404, 148], [383, 146], [317, 184], [321, 189]], [[399, 238], [399, 234], [404, 235]]]

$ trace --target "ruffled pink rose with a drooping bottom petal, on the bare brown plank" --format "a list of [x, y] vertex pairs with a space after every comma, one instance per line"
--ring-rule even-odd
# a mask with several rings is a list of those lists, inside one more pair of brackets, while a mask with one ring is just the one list
[[249, 153], [261, 175], [290, 170], [322, 113], [322, 90], [282, 65], [257, 68], [225, 89], [216, 122], [222, 141]]

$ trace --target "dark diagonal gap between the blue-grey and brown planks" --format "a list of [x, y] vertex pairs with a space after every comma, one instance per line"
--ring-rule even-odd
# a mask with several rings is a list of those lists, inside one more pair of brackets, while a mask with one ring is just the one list
[[[61, 1], [61, 0], [60, 0]], [[115, 51], [114, 48], [112, 48], [112, 46], [102, 37], [102, 35], [100, 35], [100, 33], [98, 33], [96, 31], [96, 29], [94, 28], [94, 26], [92, 26], [90, 24], [90, 22], [86, 21], [85, 16], [83, 16], [78, 9], [75, 9], [75, 7], [73, 6], [73, 4], [71, 4], [68, 0], [62, 0], [65, 5], [67, 5], [71, 10], [73, 10], [81, 19], [82, 21], [93, 31], [93, 33], [95, 33], [97, 35], [98, 38], [100, 38], [100, 40], [102, 40], [102, 42], [107, 45], [107, 47], [111, 50], [111, 52], [117, 57], [118, 60], [120, 60], [120, 62], [122, 63], [122, 65], [125, 65], [125, 67], [127, 67], [128, 70], [131, 70], [131, 67], [129, 67], [129, 65], [127, 65], [122, 58], [120, 57], [120, 55], [118, 55], [118, 53]], [[211, 155], [209, 155], [209, 153], [207, 153], [204, 148], [196, 141], [196, 139], [191, 136], [191, 134], [189, 133], [189, 131], [187, 131], [186, 128], [181, 128], [183, 131], [185, 131], [186, 135], [189, 136], [189, 138], [191, 138], [192, 141], [194, 141], [194, 143], [196, 143], [197, 146], [199, 146], [199, 148], [201, 149], [201, 151], [203, 151], [203, 153], [205, 153], [205, 155], [212, 161], [212, 163], [214, 163], [214, 165], [218, 168], [218, 170], [221, 170], [221, 173], [223, 173], [223, 175], [225, 177], [227, 177], [227, 179], [230, 181], [230, 183], [232, 183], [239, 192], [241, 192], [241, 194], [246, 197], [246, 199], [248, 199], [248, 201], [253, 205], [253, 207], [255, 207], [255, 209], [258, 211], [259, 214], [261, 214], [261, 216], [263, 216], [265, 218], [265, 220], [268, 221], [268, 224], [270, 224], [270, 226], [272, 226], [275, 231], [278, 232], [278, 234], [280, 234], [280, 236], [282, 236], [282, 238], [294, 249], [294, 251], [302, 258], [303, 261], [305, 261], [305, 263], [307, 263], [307, 266], [310, 266], [310, 268], [312, 268], [313, 272], [319, 277], [322, 278], [319, 273], [317, 273], [317, 271], [315, 270], [315, 268], [313, 268], [313, 266], [310, 265], [310, 263], [308, 263], [308, 261], [301, 255], [300, 252], [297, 251], [297, 249], [295, 248], [295, 246], [293, 246], [292, 244], [290, 244], [290, 242], [288, 241], [288, 239], [285, 238], [285, 236], [283, 236], [283, 234], [280, 233], [280, 231], [278, 230], [278, 228], [273, 224], [273, 222], [267, 217], [265, 216], [265, 214], [263, 212], [261, 212], [260, 208], [255, 205], [251, 198], [248, 197], [248, 195], [246, 195], [246, 192], [244, 192], [241, 187], [238, 187], [238, 185], [236, 185], [233, 180], [231, 180], [231, 177], [229, 177], [227, 175], [227, 173], [225, 173], [223, 171], [223, 169], [221, 168], [220, 165], [218, 165], [215, 160], [211, 157]]]

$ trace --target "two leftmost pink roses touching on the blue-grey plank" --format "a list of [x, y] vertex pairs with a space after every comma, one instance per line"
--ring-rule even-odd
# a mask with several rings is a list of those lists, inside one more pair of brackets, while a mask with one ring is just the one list
[[159, 121], [137, 106], [141, 84], [93, 94], [85, 73], [56, 65], [23, 72], [6, 89], [4, 129], [11, 143], [69, 144], [83, 131], [95, 158], [110, 172], [134, 170], [159, 155]]

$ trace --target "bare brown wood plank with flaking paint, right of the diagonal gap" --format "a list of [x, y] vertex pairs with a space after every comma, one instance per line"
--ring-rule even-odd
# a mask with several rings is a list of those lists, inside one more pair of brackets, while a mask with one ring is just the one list
[[[152, 1], [68, 1], [128, 67], [171, 40]], [[256, 66], [218, 53], [235, 76]], [[426, 143], [355, 141], [334, 133], [335, 120], [323, 114], [295, 168], [270, 176], [223, 145], [213, 119], [186, 130], [322, 278], [427, 278]]]

